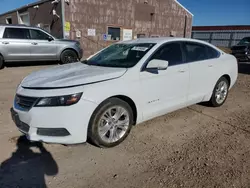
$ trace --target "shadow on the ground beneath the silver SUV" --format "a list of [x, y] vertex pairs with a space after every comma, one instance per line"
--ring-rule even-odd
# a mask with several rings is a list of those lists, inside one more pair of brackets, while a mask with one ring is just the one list
[[42, 66], [42, 65], [58, 65], [57, 61], [32, 61], [32, 62], [8, 62], [5, 67], [28, 67], [28, 66]]

